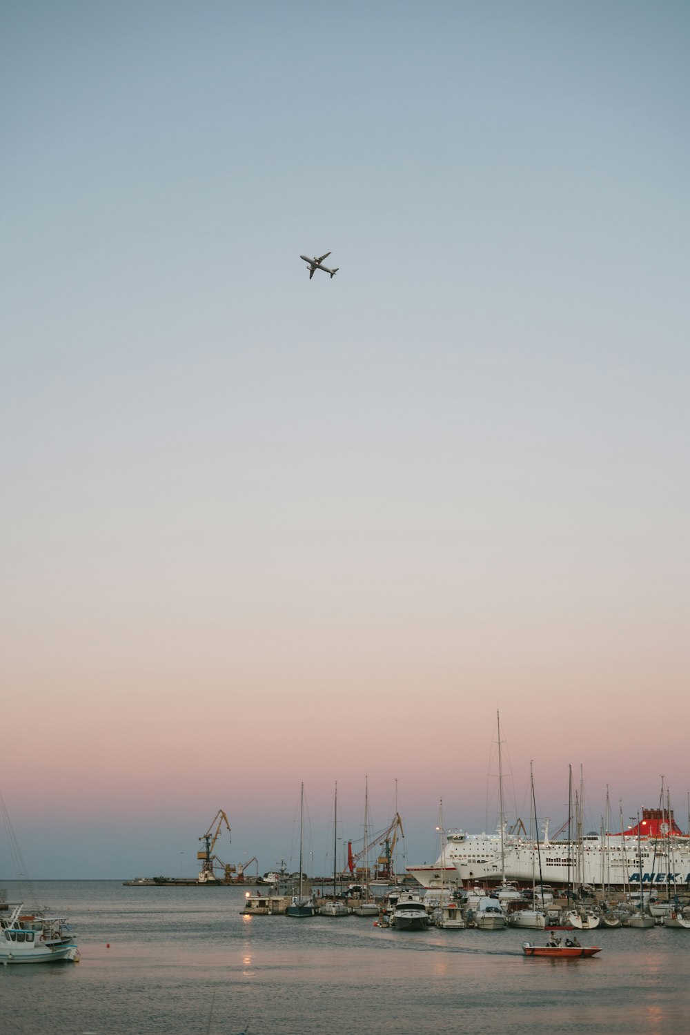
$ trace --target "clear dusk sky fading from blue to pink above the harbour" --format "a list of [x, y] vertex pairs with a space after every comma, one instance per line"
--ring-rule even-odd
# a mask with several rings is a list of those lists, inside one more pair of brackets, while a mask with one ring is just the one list
[[[0, 791], [33, 878], [397, 809], [687, 829], [690, 8], [8, 0]], [[309, 280], [301, 254], [339, 267]], [[509, 817], [510, 819], [511, 817]], [[361, 844], [361, 842], [360, 842]], [[331, 861], [329, 861], [331, 860]], [[16, 863], [0, 833], [0, 878]], [[253, 867], [250, 867], [253, 868]]]

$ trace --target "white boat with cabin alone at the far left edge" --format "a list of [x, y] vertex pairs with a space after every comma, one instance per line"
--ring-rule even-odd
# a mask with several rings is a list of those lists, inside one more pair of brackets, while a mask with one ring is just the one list
[[42, 912], [23, 913], [24, 904], [14, 906], [0, 919], [0, 963], [46, 964], [57, 959], [73, 963], [79, 949], [65, 917]]

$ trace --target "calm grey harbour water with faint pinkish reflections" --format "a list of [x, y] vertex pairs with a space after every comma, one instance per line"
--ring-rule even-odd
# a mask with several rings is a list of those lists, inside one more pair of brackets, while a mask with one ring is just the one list
[[600, 955], [553, 960], [522, 955], [540, 931], [246, 917], [240, 887], [25, 887], [69, 916], [81, 962], [0, 966], [2, 1035], [690, 1032], [690, 930], [582, 931]]

